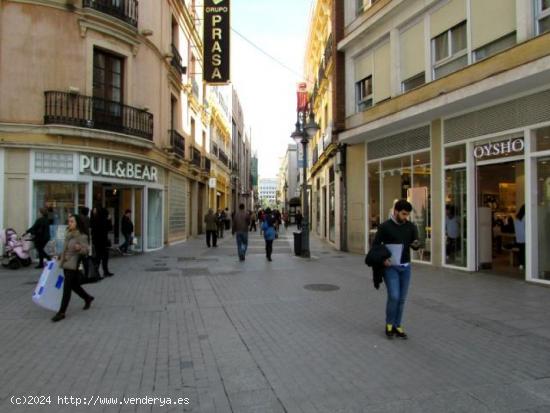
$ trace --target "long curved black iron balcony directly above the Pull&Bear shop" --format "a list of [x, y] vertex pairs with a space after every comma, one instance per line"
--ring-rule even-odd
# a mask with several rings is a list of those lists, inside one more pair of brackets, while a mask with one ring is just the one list
[[100, 129], [153, 140], [153, 114], [110, 100], [66, 92], [44, 92], [44, 124]]

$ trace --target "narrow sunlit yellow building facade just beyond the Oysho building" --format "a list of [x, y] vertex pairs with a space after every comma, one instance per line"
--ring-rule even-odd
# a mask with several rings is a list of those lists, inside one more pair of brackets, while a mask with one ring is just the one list
[[338, 134], [344, 129], [344, 61], [335, 47], [342, 37], [342, 2], [317, 0], [306, 44], [305, 76], [310, 105], [320, 131], [309, 143], [308, 191], [310, 229], [338, 249], [345, 249], [342, 194], [345, 175], [337, 162]]

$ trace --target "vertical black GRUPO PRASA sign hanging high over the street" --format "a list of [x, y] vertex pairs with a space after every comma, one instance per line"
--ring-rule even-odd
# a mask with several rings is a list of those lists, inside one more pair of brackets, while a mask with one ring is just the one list
[[230, 0], [204, 1], [204, 74], [206, 83], [230, 81]]

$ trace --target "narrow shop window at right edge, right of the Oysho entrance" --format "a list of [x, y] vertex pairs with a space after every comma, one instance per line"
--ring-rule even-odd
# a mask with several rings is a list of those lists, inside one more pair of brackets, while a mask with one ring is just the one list
[[538, 262], [535, 272], [539, 279], [550, 280], [550, 157], [537, 160], [537, 210], [533, 226], [537, 237]]

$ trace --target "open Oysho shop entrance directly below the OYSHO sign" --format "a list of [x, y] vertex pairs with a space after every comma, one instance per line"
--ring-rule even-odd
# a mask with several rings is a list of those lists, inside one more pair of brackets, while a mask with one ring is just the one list
[[524, 162], [478, 164], [476, 175], [477, 269], [523, 277]]

